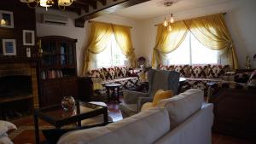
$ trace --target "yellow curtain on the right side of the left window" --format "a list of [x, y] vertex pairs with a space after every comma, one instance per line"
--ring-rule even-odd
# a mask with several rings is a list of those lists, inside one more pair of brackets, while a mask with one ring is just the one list
[[127, 26], [113, 25], [113, 34], [122, 53], [129, 60], [130, 65], [132, 67], [136, 66], [136, 57], [131, 43], [131, 28]]

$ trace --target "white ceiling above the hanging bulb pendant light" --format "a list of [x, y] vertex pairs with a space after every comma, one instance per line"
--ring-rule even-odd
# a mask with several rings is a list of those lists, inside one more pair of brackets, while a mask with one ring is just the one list
[[[172, 1], [171, 7], [166, 8], [164, 2]], [[167, 12], [177, 13], [184, 10], [196, 9], [205, 6], [224, 3], [230, 0], [151, 0], [146, 3], [140, 3], [135, 6], [121, 9], [114, 14], [142, 20], [163, 15]]]

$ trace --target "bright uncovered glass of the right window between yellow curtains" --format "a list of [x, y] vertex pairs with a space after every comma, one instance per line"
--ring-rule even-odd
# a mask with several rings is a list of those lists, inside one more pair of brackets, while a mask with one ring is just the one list
[[217, 64], [218, 51], [208, 49], [188, 32], [183, 43], [168, 54], [167, 59], [167, 65]]

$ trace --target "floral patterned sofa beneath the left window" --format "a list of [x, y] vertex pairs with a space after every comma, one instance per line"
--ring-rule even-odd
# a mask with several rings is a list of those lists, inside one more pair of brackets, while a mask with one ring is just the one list
[[86, 73], [91, 78], [93, 90], [96, 93], [105, 93], [104, 84], [119, 83], [124, 89], [134, 89], [138, 83], [136, 72], [128, 67], [109, 67], [90, 70]]

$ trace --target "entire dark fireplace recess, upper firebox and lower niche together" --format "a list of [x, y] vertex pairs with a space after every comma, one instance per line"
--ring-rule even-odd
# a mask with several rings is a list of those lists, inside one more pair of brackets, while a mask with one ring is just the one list
[[20, 118], [32, 113], [32, 77], [9, 75], [0, 78], [0, 119]]

